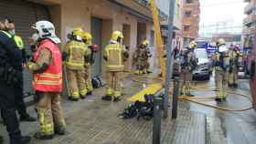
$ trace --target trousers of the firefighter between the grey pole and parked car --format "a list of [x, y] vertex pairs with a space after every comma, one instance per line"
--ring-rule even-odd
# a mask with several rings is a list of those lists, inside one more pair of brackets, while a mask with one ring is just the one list
[[190, 95], [191, 72], [188, 68], [181, 69], [180, 78], [180, 92], [185, 95]]

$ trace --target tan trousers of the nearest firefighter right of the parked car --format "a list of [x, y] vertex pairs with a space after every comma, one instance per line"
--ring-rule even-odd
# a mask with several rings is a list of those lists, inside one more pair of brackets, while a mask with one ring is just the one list
[[216, 86], [218, 91], [216, 98], [228, 97], [228, 72], [222, 69], [216, 69], [215, 71]]

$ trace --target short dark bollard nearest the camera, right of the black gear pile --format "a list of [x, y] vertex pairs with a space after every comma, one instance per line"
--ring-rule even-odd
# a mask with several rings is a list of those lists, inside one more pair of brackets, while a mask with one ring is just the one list
[[153, 124], [153, 144], [161, 142], [161, 112], [163, 99], [155, 97], [154, 99], [154, 124]]

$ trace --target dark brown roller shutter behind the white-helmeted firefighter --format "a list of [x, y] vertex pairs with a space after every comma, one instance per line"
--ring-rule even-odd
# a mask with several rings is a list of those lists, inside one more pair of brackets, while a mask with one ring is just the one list
[[[27, 54], [31, 54], [28, 37], [33, 31], [30, 26], [37, 20], [50, 20], [48, 7], [25, 0], [0, 0], [0, 20], [10, 17], [16, 24], [16, 35], [22, 36]], [[24, 92], [32, 91], [31, 75], [24, 71]]]

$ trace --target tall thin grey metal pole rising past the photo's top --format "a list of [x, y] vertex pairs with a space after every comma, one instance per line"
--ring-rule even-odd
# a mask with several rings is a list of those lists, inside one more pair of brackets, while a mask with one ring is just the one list
[[167, 62], [165, 63], [166, 67], [166, 76], [165, 76], [165, 97], [164, 97], [164, 118], [168, 117], [168, 105], [169, 105], [169, 88], [170, 88], [170, 79], [172, 76], [172, 44], [173, 44], [173, 23], [174, 23], [174, 12], [175, 12], [175, 1], [170, 0], [169, 6], [169, 20], [168, 20], [168, 45], [166, 46], [166, 55]]

